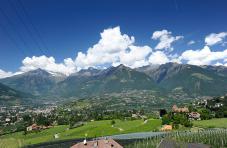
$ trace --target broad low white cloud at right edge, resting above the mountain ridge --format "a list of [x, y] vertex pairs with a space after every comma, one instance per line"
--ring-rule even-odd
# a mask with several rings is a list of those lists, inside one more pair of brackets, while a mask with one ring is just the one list
[[199, 50], [186, 50], [179, 57], [181, 61], [186, 61], [192, 65], [211, 65], [218, 60], [227, 58], [227, 49], [223, 51], [211, 51], [208, 46]]

